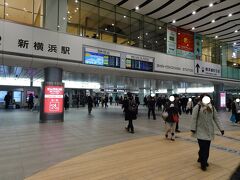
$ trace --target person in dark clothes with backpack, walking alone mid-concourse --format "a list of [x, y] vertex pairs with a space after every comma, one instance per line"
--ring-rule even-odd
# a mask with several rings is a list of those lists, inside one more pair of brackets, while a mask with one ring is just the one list
[[130, 133], [134, 133], [133, 120], [137, 119], [137, 103], [133, 99], [131, 93], [128, 93], [127, 96], [127, 101], [123, 105], [125, 112], [125, 121], [128, 121], [128, 126], [125, 127], [125, 129]]

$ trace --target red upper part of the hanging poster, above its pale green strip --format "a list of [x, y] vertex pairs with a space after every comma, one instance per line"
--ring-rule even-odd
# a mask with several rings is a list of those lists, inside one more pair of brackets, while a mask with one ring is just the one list
[[194, 52], [194, 33], [178, 29], [177, 48], [180, 50]]

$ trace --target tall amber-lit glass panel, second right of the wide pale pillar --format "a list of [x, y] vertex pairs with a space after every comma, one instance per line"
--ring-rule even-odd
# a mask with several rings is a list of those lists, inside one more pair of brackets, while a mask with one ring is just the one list
[[81, 2], [80, 35], [98, 38], [98, 7]]

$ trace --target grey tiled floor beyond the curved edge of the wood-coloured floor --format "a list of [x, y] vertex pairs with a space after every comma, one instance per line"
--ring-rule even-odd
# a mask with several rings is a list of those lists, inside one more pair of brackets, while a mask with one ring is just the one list
[[[135, 134], [124, 130], [126, 122], [120, 107], [70, 109], [64, 123], [39, 124], [39, 113], [26, 110], [0, 111], [0, 179], [15, 180], [46, 169], [56, 163], [99, 147], [122, 141], [161, 134], [164, 123], [147, 119], [145, 108], [140, 109], [134, 122]], [[219, 113], [225, 130], [232, 126], [229, 113]], [[183, 115], [180, 130], [188, 131], [191, 118]]]

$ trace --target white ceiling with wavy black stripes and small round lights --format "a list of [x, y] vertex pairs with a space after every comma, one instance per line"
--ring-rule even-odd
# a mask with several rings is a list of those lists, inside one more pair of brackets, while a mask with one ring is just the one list
[[[240, 42], [240, 0], [104, 0], [224, 42]], [[213, 3], [212, 7], [209, 4]], [[192, 12], [196, 11], [195, 15]], [[231, 17], [228, 14], [232, 13]], [[215, 23], [211, 23], [212, 20]], [[234, 31], [238, 30], [237, 33]]]

